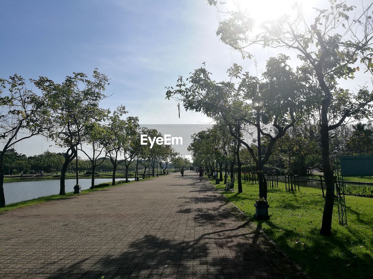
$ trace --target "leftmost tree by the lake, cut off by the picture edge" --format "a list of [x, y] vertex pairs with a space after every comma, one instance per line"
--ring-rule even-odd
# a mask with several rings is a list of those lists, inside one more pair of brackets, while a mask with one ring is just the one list
[[44, 97], [27, 89], [25, 80], [17, 74], [7, 80], [0, 78], [0, 108], [3, 144], [0, 150], [0, 207], [4, 207], [4, 156], [18, 142], [48, 129], [50, 120]]

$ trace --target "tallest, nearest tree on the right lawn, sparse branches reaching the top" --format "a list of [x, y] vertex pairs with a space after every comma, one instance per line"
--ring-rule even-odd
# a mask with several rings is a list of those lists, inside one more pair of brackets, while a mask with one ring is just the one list
[[[372, 94], [362, 88], [355, 94], [338, 87], [337, 78], [354, 78], [359, 67], [354, 67], [360, 55], [368, 70], [372, 63], [372, 17], [368, 9], [358, 19], [348, 16], [354, 6], [346, 1], [330, 0], [327, 9], [316, 9], [317, 16], [308, 22], [300, 8], [294, 19], [288, 16], [272, 20], [261, 26], [263, 32], [252, 35], [253, 20], [242, 11], [229, 12], [228, 19], [219, 23], [217, 35], [225, 44], [237, 49], [243, 57], [251, 57], [247, 47], [288, 48], [298, 54], [303, 67], [309, 68], [320, 91], [320, 134], [322, 163], [326, 184], [326, 198], [320, 234], [330, 235], [333, 204], [334, 177], [329, 160], [329, 132], [341, 126], [346, 119], [370, 117]], [[217, 1], [209, 1], [216, 5]], [[339, 28], [347, 28], [340, 34]], [[352, 29], [352, 27], [354, 27]]]

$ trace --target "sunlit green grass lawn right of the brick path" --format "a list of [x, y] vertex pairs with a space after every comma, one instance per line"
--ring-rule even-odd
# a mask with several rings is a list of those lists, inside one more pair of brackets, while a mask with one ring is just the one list
[[[253, 217], [258, 185], [243, 182], [243, 193], [225, 192], [238, 208]], [[217, 185], [224, 189], [224, 185]], [[319, 189], [285, 192], [285, 183], [268, 189], [270, 219], [257, 221], [295, 262], [313, 278], [373, 278], [373, 199], [346, 196], [348, 226], [338, 223], [334, 207], [332, 236], [319, 234], [324, 198]]]

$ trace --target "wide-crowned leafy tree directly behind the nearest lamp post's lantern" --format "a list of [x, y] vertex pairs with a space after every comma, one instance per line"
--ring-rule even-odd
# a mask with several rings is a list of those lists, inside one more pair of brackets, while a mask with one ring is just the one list
[[[242, 139], [242, 134], [252, 134], [253, 127], [260, 129], [261, 136], [268, 139], [266, 152], [261, 159], [264, 166], [272, 154], [276, 141], [301, 119], [303, 111], [312, 104], [316, 93], [314, 84], [308, 79], [307, 71], [299, 68], [293, 71], [287, 63], [288, 59], [289, 57], [282, 54], [277, 58], [270, 58], [263, 73], [263, 82], [248, 72], [242, 73], [242, 67], [233, 64], [228, 69], [230, 81], [217, 83], [211, 79], [211, 73], [205, 67], [201, 67], [185, 81], [179, 76], [176, 89], [167, 87], [166, 98], [181, 100], [187, 110], [203, 112], [217, 120], [223, 119], [233, 138], [238, 141], [235, 158], [239, 167], [241, 162], [237, 153], [241, 144], [258, 164], [253, 148], [249, 142]], [[238, 80], [237, 84], [234, 80]], [[257, 112], [249, 102], [257, 90], [266, 101], [261, 111], [261, 124], [271, 125], [270, 129], [257, 125]], [[305, 96], [310, 98], [306, 100]]]

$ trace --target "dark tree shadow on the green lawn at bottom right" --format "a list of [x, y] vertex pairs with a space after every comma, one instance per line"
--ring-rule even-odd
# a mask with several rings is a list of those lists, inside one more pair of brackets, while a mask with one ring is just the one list
[[[337, 247], [345, 247], [346, 243], [352, 243], [352, 234], [335, 234], [323, 237], [319, 234], [319, 228], [311, 230], [312, 238], [308, 237], [308, 242], [302, 241], [303, 232], [284, 229], [274, 224], [271, 220], [258, 221], [258, 228], [269, 225], [271, 235], [273, 231], [281, 230], [281, 235], [277, 235], [275, 241], [283, 247], [286, 253], [298, 262], [303, 262], [303, 268], [311, 275], [316, 276], [319, 270], [323, 270], [322, 278], [370, 278], [372, 275], [373, 259], [368, 253], [358, 257], [351, 251], [345, 249], [342, 253], [337, 251]], [[291, 245], [289, 245], [289, 242]], [[351, 269], [351, 266], [358, 266]], [[359, 277], [360, 276], [360, 277]], [[319, 278], [319, 277], [318, 277]]]

